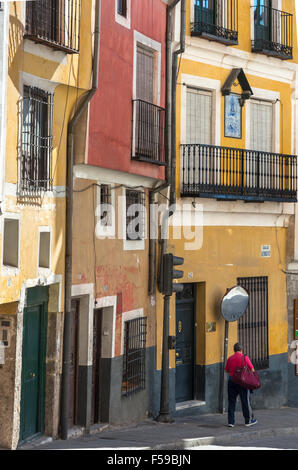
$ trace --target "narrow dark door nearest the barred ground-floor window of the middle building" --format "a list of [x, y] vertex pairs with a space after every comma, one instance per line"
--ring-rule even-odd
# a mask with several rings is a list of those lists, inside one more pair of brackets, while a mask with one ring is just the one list
[[101, 419], [101, 387], [100, 387], [100, 362], [101, 362], [101, 330], [102, 309], [94, 310], [93, 317], [93, 365], [92, 365], [92, 408], [91, 417], [93, 424]]

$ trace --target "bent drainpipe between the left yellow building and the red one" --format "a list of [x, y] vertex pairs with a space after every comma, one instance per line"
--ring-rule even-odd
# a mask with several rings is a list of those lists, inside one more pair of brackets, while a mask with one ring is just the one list
[[[63, 331], [63, 364], [61, 383], [61, 438], [68, 438], [69, 399], [70, 399], [70, 363], [71, 363], [71, 286], [72, 286], [72, 219], [73, 219], [73, 153], [74, 129], [86, 110], [91, 98], [98, 88], [99, 40], [100, 40], [101, 0], [95, 4], [94, 55], [92, 71], [92, 88], [83, 96], [67, 128], [67, 175], [66, 175], [66, 228], [65, 228], [65, 290], [64, 290], [64, 331]], [[77, 103], [76, 103], [77, 104]]]

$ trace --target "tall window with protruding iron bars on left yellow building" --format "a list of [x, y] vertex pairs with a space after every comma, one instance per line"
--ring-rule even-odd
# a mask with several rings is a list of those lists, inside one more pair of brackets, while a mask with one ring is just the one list
[[53, 94], [24, 86], [20, 101], [19, 194], [52, 189]]

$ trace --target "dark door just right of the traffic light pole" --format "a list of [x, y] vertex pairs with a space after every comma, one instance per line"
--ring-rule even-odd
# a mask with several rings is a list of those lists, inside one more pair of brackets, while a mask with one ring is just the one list
[[195, 286], [176, 294], [176, 402], [194, 398]]

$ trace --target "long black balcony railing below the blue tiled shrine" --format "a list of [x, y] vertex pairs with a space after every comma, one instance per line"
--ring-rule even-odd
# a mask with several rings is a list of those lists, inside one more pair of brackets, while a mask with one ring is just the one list
[[214, 145], [181, 146], [182, 196], [297, 201], [297, 156]]

